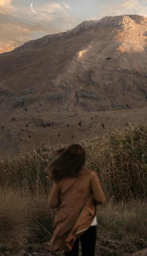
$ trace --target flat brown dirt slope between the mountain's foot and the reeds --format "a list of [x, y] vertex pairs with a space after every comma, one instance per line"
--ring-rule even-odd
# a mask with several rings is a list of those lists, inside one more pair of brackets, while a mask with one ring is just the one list
[[[81, 126], [78, 124], [80, 121]], [[116, 128], [127, 128], [127, 122], [146, 124], [147, 108], [76, 114], [53, 112], [33, 115], [25, 112], [5, 118], [4, 128], [0, 130], [0, 154], [12, 156], [18, 154], [19, 150], [30, 151], [32, 146], [41, 143], [64, 145], [81, 143], [85, 139], [90, 142], [95, 135], [101, 137]], [[105, 128], [101, 126], [102, 123]]]

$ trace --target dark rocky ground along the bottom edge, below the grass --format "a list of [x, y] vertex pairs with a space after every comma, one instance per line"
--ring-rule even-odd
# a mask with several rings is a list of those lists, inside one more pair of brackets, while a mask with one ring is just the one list
[[[49, 243], [21, 246], [14, 251], [0, 252], [0, 256], [63, 256], [64, 251], [52, 252]], [[82, 255], [79, 244], [79, 256]], [[139, 239], [129, 242], [116, 242], [103, 236], [97, 237], [95, 256], [147, 256], [147, 240]], [[89, 255], [90, 256], [90, 255]]]

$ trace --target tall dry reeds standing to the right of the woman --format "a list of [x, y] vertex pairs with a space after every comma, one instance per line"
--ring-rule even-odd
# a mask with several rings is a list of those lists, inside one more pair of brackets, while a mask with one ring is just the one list
[[86, 167], [97, 172], [107, 199], [146, 199], [147, 126], [129, 125], [86, 146]]

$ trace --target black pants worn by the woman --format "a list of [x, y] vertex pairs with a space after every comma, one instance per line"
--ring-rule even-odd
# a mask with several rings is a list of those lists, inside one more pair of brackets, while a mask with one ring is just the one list
[[85, 233], [75, 241], [72, 251], [65, 252], [65, 256], [79, 255], [79, 240], [82, 246], [82, 256], [94, 256], [96, 243], [96, 226], [90, 226]]

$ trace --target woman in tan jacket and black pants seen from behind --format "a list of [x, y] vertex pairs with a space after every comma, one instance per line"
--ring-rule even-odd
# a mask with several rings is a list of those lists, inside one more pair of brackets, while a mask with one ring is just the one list
[[72, 144], [59, 149], [45, 172], [54, 181], [49, 198], [51, 209], [57, 208], [50, 251], [64, 250], [66, 256], [78, 256], [79, 238], [82, 256], [94, 256], [96, 242], [96, 205], [105, 202], [94, 171], [84, 169], [85, 149]]

